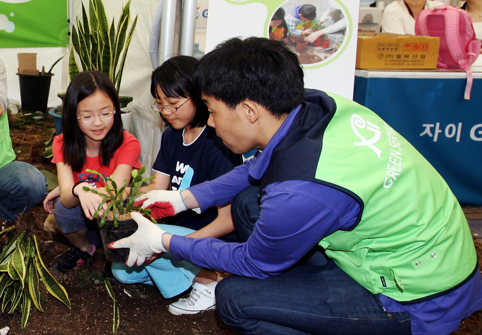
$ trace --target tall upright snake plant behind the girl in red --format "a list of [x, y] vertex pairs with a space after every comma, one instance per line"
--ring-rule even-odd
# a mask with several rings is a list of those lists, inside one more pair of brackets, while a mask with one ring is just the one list
[[[127, 1], [117, 24], [107, 21], [102, 0], [89, 0], [89, 15], [82, 3], [82, 20], [77, 18], [77, 27], [72, 27], [72, 45], [69, 56], [69, 76], [72, 80], [77, 73], [85, 70], [97, 70], [106, 74], [119, 92], [120, 80], [124, 69], [125, 58], [137, 23], [137, 15], [128, 29], [131, 14]], [[77, 65], [74, 51], [79, 55], [80, 67]]]

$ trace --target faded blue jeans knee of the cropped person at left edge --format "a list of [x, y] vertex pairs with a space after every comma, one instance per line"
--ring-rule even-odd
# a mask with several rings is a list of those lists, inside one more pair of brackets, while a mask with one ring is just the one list
[[0, 169], [0, 220], [15, 221], [47, 195], [45, 176], [36, 167], [12, 161]]

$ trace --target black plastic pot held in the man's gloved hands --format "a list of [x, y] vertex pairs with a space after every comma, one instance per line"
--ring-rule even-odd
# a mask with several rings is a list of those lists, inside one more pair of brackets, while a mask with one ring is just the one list
[[[97, 220], [97, 225], [100, 220]], [[118, 227], [114, 227], [114, 221], [107, 220], [104, 227], [100, 227], [100, 236], [104, 244], [104, 252], [107, 260], [112, 263], [125, 263], [129, 256], [129, 248], [110, 249], [109, 243], [129, 237], [137, 230], [137, 223], [133, 219], [117, 221]]]

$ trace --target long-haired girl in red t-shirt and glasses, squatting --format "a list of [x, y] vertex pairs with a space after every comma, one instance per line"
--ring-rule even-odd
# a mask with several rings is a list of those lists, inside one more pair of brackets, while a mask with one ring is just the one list
[[[66, 272], [88, 265], [95, 244], [99, 244], [93, 214], [102, 198], [82, 187], [103, 188], [105, 184], [98, 175], [85, 170], [96, 170], [104, 177], [112, 175], [117, 184], [122, 184], [124, 179], [130, 180], [134, 168], [141, 167], [141, 148], [139, 141], [122, 129], [119, 97], [112, 81], [98, 71], [80, 72], [68, 85], [62, 128], [63, 134], [54, 137], [52, 160], [59, 186], [43, 204], [73, 244], [52, 262], [54, 270]], [[99, 215], [106, 209], [104, 204]]]

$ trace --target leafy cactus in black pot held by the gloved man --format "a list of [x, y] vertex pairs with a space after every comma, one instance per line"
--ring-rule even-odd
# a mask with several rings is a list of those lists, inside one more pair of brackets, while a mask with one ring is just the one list
[[[109, 249], [108, 245], [111, 242], [131, 236], [137, 230], [137, 223], [131, 219], [130, 213], [132, 211], [141, 212], [150, 218], [153, 223], [157, 223], [156, 220], [151, 217], [150, 209], [143, 209], [140, 206], [134, 206], [135, 199], [143, 193], [139, 191], [139, 187], [143, 182], [154, 179], [154, 177], [142, 177], [142, 174], [146, 172], [145, 166], [143, 166], [139, 171], [132, 170], [133, 179], [131, 182], [131, 189], [127, 194], [127, 200], [124, 201], [122, 199], [122, 194], [127, 188], [126, 179], [124, 179], [123, 185], [118, 187], [117, 183], [110, 176], [104, 178], [102, 174], [99, 174], [95, 170], [86, 169], [85, 171], [98, 174], [106, 184], [105, 193], [87, 186], [84, 186], [82, 189], [84, 191], [90, 191], [98, 194], [102, 197], [102, 202], [95, 211], [94, 217], [97, 219], [97, 224], [99, 225], [100, 236], [102, 238], [102, 243], [104, 244], [104, 251], [109, 261], [113, 263], [124, 263], [129, 256], [129, 248]], [[99, 217], [99, 211], [102, 209], [102, 206], [105, 203], [107, 203], [107, 210], [104, 211], [102, 217]]]

